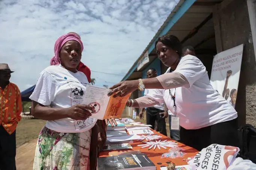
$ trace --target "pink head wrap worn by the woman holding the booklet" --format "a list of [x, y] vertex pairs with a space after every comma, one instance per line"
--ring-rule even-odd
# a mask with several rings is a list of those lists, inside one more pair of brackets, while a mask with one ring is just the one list
[[66, 42], [71, 41], [71, 40], [77, 41], [81, 45], [82, 52], [83, 52], [83, 49], [84, 49], [83, 43], [82, 43], [81, 39], [76, 34], [71, 33], [71, 34], [61, 35], [54, 44], [54, 56], [53, 56], [53, 58], [51, 58], [51, 61], [50, 61], [51, 65], [59, 65], [60, 64], [60, 59], [59, 59], [60, 49]]

